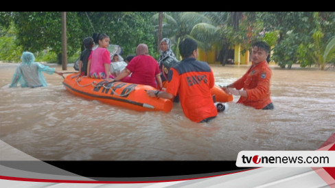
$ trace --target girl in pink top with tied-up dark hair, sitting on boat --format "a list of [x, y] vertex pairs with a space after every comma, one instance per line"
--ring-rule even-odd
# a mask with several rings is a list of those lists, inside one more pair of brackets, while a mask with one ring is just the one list
[[87, 65], [87, 75], [91, 78], [108, 79], [113, 78], [109, 73], [111, 69], [111, 54], [107, 50], [109, 45], [109, 36], [100, 34], [99, 47], [94, 49], [89, 56], [89, 63]]

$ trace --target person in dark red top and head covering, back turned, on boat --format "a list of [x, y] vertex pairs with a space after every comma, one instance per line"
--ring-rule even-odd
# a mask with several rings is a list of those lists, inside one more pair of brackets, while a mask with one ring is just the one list
[[[122, 80], [123, 82], [133, 84], [150, 85], [161, 89], [163, 87], [161, 81], [161, 71], [157, 61], [149, 55], [148, 46], [146, 44], [139, 44], [136, 48], [135, 58], [128, 63], [127, 67], [119, 74], [115, 81]], [[130, 73], [132, 73], [130, 75]], [[130, 75], [128, 79], [124, 80], [126, 76]]]

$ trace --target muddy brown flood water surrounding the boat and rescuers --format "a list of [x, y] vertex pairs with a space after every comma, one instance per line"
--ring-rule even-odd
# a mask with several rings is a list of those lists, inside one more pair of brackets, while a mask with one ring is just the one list
[[[170, 113], [137, 112], [77, 97], [56, 74], [43, 73], [48, 87], [9, 88], [16, 66], [0, 63], [0, 139], [42, 161], [235, 161], [242, 150], [317, 150], [334, 133], [334, 69], [271, 66], [275, 110], [235, 96], [216, 119], [196, 124], [178, 103]], [[218, 85], [249, 66], [211, 65]]]

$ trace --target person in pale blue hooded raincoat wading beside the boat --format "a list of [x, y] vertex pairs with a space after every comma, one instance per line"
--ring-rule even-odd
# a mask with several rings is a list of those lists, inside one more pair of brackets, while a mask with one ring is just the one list
[[50, 68], [39, 62], [35, 62], [35, 56], [29, 51], [23, 52], [21, 56], [21, 64], [15, 69], [10, 87], [16, 87], [20, 82], [21, 87], [38, 87], [47, 86], [47, 81], [42, 73], [62, 75], [61, 72], [55, 71], [55, 68]]

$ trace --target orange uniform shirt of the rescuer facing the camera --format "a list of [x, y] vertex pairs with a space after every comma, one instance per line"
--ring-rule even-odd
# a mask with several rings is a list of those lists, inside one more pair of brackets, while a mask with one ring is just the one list
[[[240, 97], [238, 103], [262, 109], [271, 103], [270, 79], [272, 71], [268, 62], [264, 60], [250, 69], [240, 78], [233, 82], [235, 89], [244, 89], [248, 97]], [[272, 107], [273, 108], [273, 107]]]

